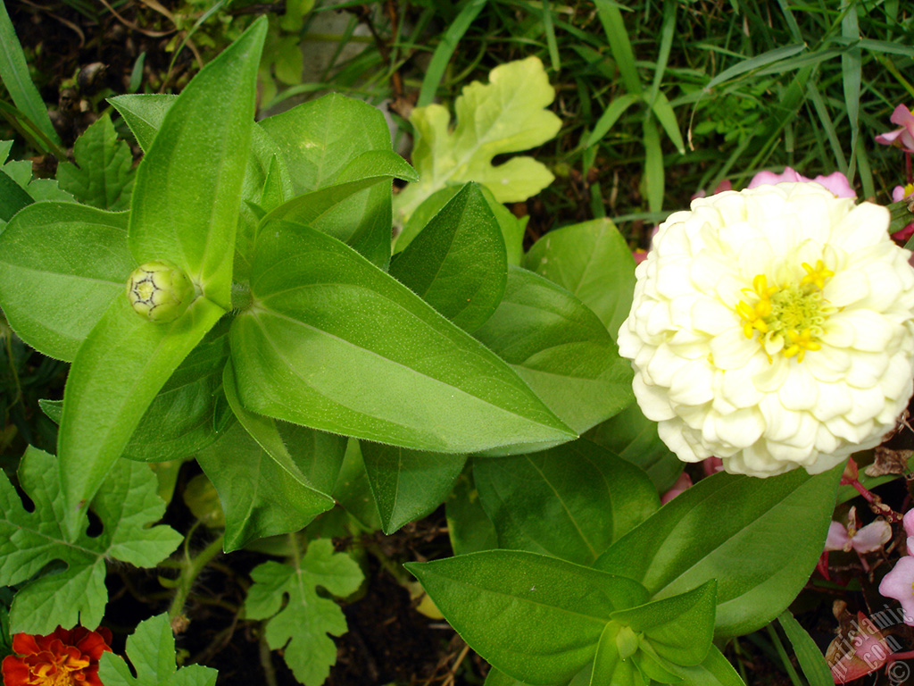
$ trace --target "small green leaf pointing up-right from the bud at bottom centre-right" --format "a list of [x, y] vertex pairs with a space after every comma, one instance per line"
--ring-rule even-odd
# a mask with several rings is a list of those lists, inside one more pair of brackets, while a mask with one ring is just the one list
[[714, 638], [713, 579], [684, 594], [654, 600], [612, 613], [612, 619], [643, 633], [665, 662], [692, 667], [701, 664]]

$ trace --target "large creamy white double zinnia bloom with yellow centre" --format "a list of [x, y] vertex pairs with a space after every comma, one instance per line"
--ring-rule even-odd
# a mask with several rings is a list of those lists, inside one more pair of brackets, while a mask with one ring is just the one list
[[680, 459], [815, 474], [894, 427], [914, 386], [914, 269], [888, 221], [783, 183], [698, 198], [661, 224], [619, 350]]

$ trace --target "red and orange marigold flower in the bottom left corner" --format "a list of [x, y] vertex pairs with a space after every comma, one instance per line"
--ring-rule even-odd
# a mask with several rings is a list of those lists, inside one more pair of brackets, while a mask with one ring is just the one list
[[16, 634], [3, 660], [4, 686], [103, 686], [99, 658], [111, 652], [112, 632], [100, 627], [57, 627], [49, 636]]

